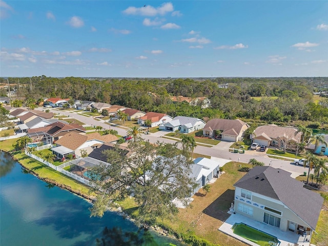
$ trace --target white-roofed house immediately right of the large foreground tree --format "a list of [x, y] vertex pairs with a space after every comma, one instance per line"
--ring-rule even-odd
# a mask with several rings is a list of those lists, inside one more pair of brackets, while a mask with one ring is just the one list
[[192, 165], [191, 177], [195, 178], [197, 187], [193, 190], [194, 195], [201, 187], [210, 182], [212, 178], [219, 175], [220, 163], [209, 158], [198, 157]]

